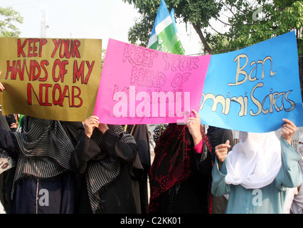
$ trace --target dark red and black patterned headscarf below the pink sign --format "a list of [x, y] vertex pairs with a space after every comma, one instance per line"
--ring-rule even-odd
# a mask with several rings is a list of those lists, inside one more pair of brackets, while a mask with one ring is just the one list
[[[211, 152], [211, 144], [201, 126], [203, 139], [203, 151], [201, 161], [206, 159], [208, 151]], [[151, 196], [149, 201], [149, 213], [153, 213], [159, 207], [159, 196], [167, 190], [184, 182], [191, 175], [190, 151], [193, 150], [191, 135], [186, 125], [170, 123], [160, 136], [154, 153], [154, 162], [149, 172]]]

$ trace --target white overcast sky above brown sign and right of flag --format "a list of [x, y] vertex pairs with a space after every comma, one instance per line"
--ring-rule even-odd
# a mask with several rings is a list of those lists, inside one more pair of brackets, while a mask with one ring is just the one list
[[[17, 24], [20, 37], [41, 37], [41, 11], [46, 12], [46, 38], [101, 38], [107, 48], [109, 38], [129, 43], [127, 33], [139, 14], [134, 6], [122, 0], [0, 0], [0, 6], [11, 6], [23, 16]], [[176, 24], [186, 55], [201, 52], [193, 27]]]

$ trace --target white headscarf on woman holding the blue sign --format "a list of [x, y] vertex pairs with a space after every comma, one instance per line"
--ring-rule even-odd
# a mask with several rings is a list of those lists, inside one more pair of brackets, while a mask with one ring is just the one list
[[275, 132], [239, 133], [239, 143], [226, 158], [228, 185], [258, 189], [270, 185], [281, 167], [281, 144]]

